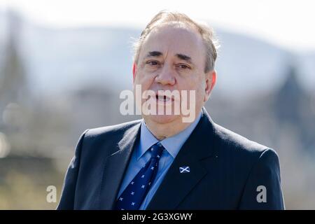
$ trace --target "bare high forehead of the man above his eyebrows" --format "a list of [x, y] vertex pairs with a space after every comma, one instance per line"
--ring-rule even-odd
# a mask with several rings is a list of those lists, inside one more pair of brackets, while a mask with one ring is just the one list
[[204, 52], [202, 37], [193, 27], [183, 24], [159, 25], [146, 36], [141, 47], [140, 57], [147, 52], [159, 51], [163, 55], [183, 54], [199, 59]]

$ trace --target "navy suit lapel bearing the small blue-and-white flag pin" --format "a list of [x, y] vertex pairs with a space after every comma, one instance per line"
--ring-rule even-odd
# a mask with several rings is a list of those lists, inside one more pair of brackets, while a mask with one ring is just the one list
[[[176, 209], [195, 185], [207, 174], [200, 160], [214, 155], [214, 127], [207, 111], [174, 159], [165, 179], [148, 204], [147, 210]], [[190, 167], [189, 173], [180, 173], [179, 167]]]

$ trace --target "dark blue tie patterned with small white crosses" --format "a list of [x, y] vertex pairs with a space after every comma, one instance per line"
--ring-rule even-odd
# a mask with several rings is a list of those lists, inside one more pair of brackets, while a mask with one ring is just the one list
[[140, 169], [116, 201], [116, 210], [138, 210], [158, 173], [158, 164], [165, 148], [160, 142], [151, 147], [151, 159]]

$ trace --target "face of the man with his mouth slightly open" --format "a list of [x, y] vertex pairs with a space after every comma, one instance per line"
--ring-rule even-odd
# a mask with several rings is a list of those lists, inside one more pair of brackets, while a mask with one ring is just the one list
[[[214, 71], [204, 73], [205, 55], [202, 37], [195, 29], [181, 24], [155, 27], [141, 46], [139, 60], [134, 70], [134, 85], [141, 85], [142, 92], [153, 90], [157, 93], [154, 99], [156, 108], [158, 104], [174, 106], [173, 99], [158, 95], [158, 90], [179, 90], [180, 93], [181, 90], [187, 90], [188, 106], [195, 104], [194, 113], [197, 116], [204, 102], [207, 102], [216, 78], [214, 77], [212, 81], [216, 75]], [[190, 90], [195, 90], [195, 99], [189, 99]], [[146, 100], [142, 99], [142, 104]], [[146, 122], [151, 123], [183, 122], [182, 113], [143, 114], [143, 117]]]

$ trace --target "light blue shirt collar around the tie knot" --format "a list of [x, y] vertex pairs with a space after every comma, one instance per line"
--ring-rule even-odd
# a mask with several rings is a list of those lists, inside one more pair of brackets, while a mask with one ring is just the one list
[[[188, 127], [186, 127], [185, 130], [161, 141], [162, 146], [164, 146], [164, 148], [167, 150], [169, 154], [172, 155], [173, 158], [176, 157], [183, 144], [186, 142], [188, 137], [190, 137], [190, 134], [193, 132], [193, 130], [199, 123], [201, 116], [202, 112], [200, 112], [199, 116], [195, 119], [195, 121], [191, 123]], [[159, 140], [153, 136], [150, 130], [148, 130], [148, 127], [146, 126], [144, 119], [142, 119], [139, 147], [140, 150], [138, 151], [137, 160], [139, 160], [139, 158], [141, 158], [141, 156], [144, 155], [144, 153], [146, 153], [148, 148], [158, 143], [158, 141]]]

